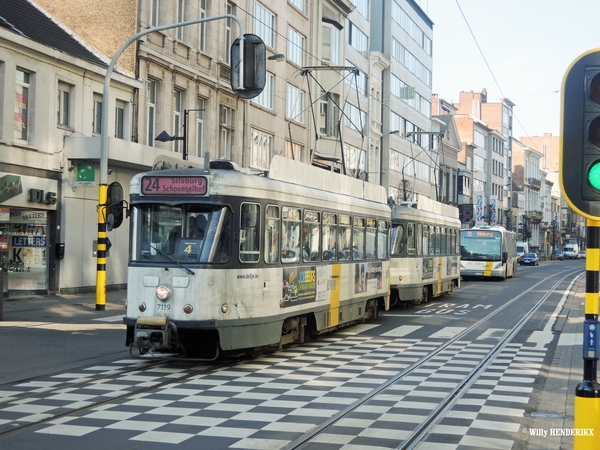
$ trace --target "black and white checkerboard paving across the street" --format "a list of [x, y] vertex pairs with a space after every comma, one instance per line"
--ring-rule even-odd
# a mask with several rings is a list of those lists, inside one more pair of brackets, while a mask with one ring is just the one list
[[[141, 442], [145, 448], [285, 448], [443, 343], [409, 336], [338, 333], [100, 406], [92, 405], [197, 367], [161, 365], [95, 381], [94, 376], [115, 368], [90, 367], [1, 391], [0, 430], [89, 405], [45, 422], [36, 433], [76, 437], [77, 445], [88, 449], [109, 438]], [[307, 448], [396, 448], [494, 344], [489, 339], [455, 342]], [[544, 352], [524, 344], [506, 346], [418, 448], [512, 448]], [[140, 363], [115, 363], [128, 364]], [[52, 394], [44, 395], [50, 389]]]

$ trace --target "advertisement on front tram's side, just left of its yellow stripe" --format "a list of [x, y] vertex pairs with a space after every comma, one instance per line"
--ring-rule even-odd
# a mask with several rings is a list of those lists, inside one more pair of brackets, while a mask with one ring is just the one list
[[327, 298], [325, 274], [324, 267], [284, 268], [280, 306], [285, 308], [325, 300]]

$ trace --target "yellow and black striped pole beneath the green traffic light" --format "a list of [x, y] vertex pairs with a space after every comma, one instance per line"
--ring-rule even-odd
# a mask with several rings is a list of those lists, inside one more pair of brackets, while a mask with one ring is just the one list
[[583, 381], [575, 389], [574, 449], [600, 448], [598, 383], [598, 298], [600, 291], [600, 221], [587, 219]]

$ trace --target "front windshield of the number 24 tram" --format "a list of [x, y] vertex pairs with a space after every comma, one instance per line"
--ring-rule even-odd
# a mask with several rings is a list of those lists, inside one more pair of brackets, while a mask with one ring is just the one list
[[225, 263], [231, 255], [231, 212], [211, 205], [134, 205], [131, 259]]

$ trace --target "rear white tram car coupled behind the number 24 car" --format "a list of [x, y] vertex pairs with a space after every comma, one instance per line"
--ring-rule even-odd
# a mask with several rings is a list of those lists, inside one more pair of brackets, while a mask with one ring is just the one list
[[397, 302], [426, 302], [460, 286], [458, 209], [419, 198], [392, 208], [390, 289]]

